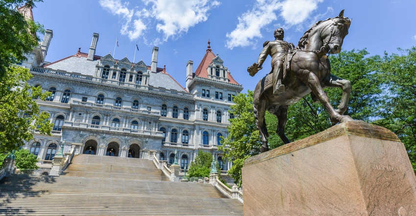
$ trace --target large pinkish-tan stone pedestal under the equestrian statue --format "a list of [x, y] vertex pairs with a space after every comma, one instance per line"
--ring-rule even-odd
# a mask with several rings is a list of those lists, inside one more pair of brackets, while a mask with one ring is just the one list
[[416, 215], [404, 145], [362, 121], [250, 157], [242, 178], [245, 216]]

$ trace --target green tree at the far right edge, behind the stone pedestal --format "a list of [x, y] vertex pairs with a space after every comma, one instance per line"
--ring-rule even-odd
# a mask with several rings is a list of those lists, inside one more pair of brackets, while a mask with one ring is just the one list
[[378, 79], [385, 86], [374, 124], [392, 130], [403, 142], [416, 172], [416, 47], [385, 53]]

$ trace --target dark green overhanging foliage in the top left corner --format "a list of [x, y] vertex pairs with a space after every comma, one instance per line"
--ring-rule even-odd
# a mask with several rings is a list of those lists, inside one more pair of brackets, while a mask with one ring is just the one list
[[42, 0], [0, 0], [0, 80], [11, 64], [25, 60], [25, 53], [38, 45], [37, 32], [44, 32], [43, 26], [26, 19], [16, 8]]

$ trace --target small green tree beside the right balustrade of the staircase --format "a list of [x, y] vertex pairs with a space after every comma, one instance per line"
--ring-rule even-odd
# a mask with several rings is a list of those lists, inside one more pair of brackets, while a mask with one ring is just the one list
[[191, 161], [189, 165], [188, 175], [189, 177], [209, 177], [211, 172], [212, 154], [198, 151], [195, 160]]

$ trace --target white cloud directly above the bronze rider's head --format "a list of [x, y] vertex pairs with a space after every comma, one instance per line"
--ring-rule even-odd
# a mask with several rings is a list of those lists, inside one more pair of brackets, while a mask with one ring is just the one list
[[253, 9], [238, 17], [238, 24], [227, 33], [227, 48], [254, 45], [262, 38], [261, 29], [275, 22], [278, 17], [285, 27], [304, 22], [323, 0], [257, 0]]

